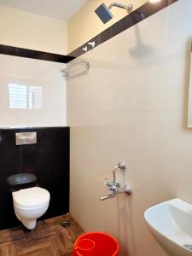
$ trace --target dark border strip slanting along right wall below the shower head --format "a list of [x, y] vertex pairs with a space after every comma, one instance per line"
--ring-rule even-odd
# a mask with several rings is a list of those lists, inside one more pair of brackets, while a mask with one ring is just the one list
[[[147, 19], [149, 16], [156, 14], [162, 9], [165, 9], [172, 3], [176, 3], [179, 0], [161, 0], [160, 3], [145, 3], [131, 14], [126, 15], [123, 19], [114, 23], [112, 26], [108, 27], [106, 30], [98, 34], [95, 38], [91, 38], [88, 42], [95, 42], [96, 46], [106, 42], [108, 39], [113, 38], [118, 35], [120, 32], [124, 32], [126, 29], [131, 26], [136, 25], [138, 22]], [[75, 58], [84, 54], [83, 48], [85, 46], [88, 47], [89, 51], [92, 49], [91, 46], [88, 45], [88, 42], [80, 46], [78, 49], [73, 50], [69, 56], [73, 56]]]

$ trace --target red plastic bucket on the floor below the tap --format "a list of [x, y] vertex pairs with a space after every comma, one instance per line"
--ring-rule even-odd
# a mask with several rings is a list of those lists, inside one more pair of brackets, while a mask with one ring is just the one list
[[73, 247], [73, 256], [118, 256], [119, 242], [108, 233], [85, 233]]

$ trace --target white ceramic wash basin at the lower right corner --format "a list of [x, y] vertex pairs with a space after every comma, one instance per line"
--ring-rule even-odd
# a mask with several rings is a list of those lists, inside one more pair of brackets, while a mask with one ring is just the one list
[[178, 198], [165, 201], [148, 208], [144, 218], [166, 252], [172, 256], [192, 256], [192, 204]]

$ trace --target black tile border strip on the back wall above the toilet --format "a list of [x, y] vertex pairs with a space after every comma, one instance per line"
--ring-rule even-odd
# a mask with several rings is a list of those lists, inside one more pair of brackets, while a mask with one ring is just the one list
[[13, 55], [24, 58], [31, 58], [42, 61], [55, 61], [61, 63], [67, 63], [72, 61], [74, 57], [69, 55], [56, 55], [49, 52], [34, 50], [34, 49], [23, 49], [18, 47], [13, 47], [9, 45], [0, 44], [0, 54], [3, 55]]

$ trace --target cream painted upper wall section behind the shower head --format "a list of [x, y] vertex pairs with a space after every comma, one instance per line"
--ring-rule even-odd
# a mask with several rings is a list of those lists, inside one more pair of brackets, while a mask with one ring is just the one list
[[[107, 5], [113, 3], [112, 0], [104, 1]], [[134, 9], [137, 9], [143, 3], [148, 2], [147, 0], [121, 0], [120, 3], [132, 3]], [[95, 14], [95, 9], [103, 3], [103, 0], [88, 0], [84, 7], [79, 10], [79, 12], [73, 16], [71, 20], [67, 22], [68, 26], [68, 53], [73, 51], [73, 49], [78, 48], [85, 42], [89, 41], [90, 38], [94, 38], [97, 34], [111, 26], [113, 23], [117, 22], [123, 18], [127, 13], [124, 9], [113, 8], [112, 13], [114, 15], [113, 19], [110, 20], [105, 25]]]

